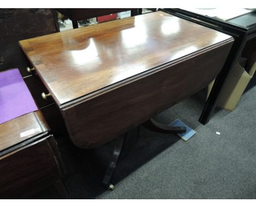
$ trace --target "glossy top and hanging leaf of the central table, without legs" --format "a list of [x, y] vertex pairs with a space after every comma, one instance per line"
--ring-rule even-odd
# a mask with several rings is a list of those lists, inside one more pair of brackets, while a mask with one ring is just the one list
[[233, 38], [161, 11], [22, 40], [80, 148], [109, 142], [205, 88]]

